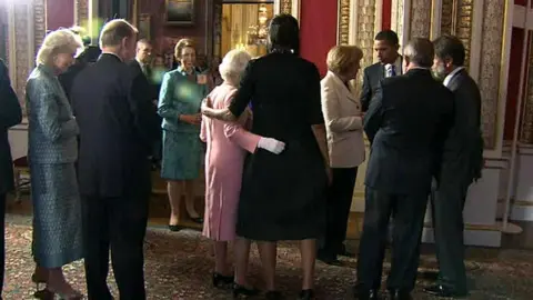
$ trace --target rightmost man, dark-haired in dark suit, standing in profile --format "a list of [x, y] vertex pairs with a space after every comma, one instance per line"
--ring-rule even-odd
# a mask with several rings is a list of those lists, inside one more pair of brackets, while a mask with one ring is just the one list
[[433, 71], [454, 96], [454, 122], [444, 143], [442, 166], [432, 198], [432, 219], [440, 272], [426, 292], [439, 297], [467, 294], [464, 268], [463, 208], [469, 186], [481, 178], [483, 138], [481, 94], [464, 69], [464, 46], [456, 37], [443, 36], [433, 42]]

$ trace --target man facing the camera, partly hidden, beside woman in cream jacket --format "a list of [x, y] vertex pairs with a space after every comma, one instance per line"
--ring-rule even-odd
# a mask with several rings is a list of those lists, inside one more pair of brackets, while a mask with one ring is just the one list
[[402, 56], [398, 53], [399, 48], [396, 32], [383, 30], [375, 36], [374, 51], [379, 62], [364, 68], [363, 71], [363, 88], [361, 91], [363, 111], [369, 109], [370, 100], [372, 100], [383, 78], [402, 74]]

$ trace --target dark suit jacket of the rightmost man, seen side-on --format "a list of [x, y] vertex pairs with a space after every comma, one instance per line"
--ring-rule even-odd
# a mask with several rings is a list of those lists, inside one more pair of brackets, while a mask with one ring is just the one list
[[483, 168], [480, 89], [466, 70], [459, 71], [447, 88], [454, 96], [454, 120], [444, 143], [440, 182], [467, 187], [481, 178]]

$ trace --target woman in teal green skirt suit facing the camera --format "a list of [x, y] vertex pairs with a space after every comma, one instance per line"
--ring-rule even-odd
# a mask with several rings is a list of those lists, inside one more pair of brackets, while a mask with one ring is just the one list
[[161, 177], [167, 180], [171, 207], [169, 228], [179, 230], [180, 199], [184, 189], [187, 212], [201, 223], [194, 209], [194, 179], [199, 177], [203, 147], [201, 144], [200, 104], [208, 94], [207, 76], [198, 73], [197, 50], [192, 40], [181, 39], [174, 49], [178, 69], [164, 74], [159, 94], [158, 113], [163, 118], [163, 160]]

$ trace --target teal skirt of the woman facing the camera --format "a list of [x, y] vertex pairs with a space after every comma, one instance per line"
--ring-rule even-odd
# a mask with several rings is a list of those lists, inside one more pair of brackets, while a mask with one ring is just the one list
[[193, 180], [200, 176], [203, 146], [197, 132], [163, 130], [161, 178]]

